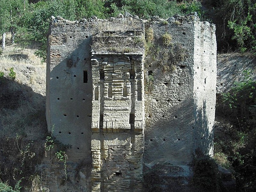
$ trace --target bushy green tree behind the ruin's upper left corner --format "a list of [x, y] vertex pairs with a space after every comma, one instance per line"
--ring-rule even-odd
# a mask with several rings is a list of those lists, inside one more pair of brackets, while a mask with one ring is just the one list
[[22, 44], [38, 43], [40, 48], [36, 55], [46, 59], [47, 33], [51, 16], [61, 16], [68, 20], [76, 19], [76, 0], [39, 1], [30, 4], [22, 16], [23, 26], [19, 31], [19, 42]]

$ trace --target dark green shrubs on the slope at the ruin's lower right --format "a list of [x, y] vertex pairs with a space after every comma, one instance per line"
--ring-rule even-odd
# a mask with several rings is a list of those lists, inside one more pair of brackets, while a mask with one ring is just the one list
[[[216, 109], [232, 125], [215, 133], [214, 150], [226, 156], [236, 171], [238, 191], [256, 190], [256, 81], [252, 72], [244, 71], [244, 80], [224, 93]], [[223, 159], [223, 158], [222, 158]]]

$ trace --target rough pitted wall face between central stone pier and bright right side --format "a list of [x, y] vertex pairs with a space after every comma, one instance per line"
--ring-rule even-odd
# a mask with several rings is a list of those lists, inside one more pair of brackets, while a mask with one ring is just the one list
[[[174, 64], [174, 71], [164, 72], [159, 63], [145, 63], [151, 66], [154, 87], [145, 93], [145, 163], [170, 162], [171, 164], [187, 164], [192, 159], [193, 148], [193, 76], [191, 69], [194, 64], [193, 24], [162, 25], [152, 22], [149, 26], [154, 32], [156, 47], [164, 50], [161, 45], [164, 34], [172, 37], [168, 50], [184, 49], [184, 60]], [[179, 50], [178, 50], [179, 51]], [[164, 53], [162, 53], [164, 54]], [[165, 61], [169, 65], [173, 60]], [[149, 75], [149, 74], [148, 74]], [[145, 84], [147, 86], [147, 84]]]

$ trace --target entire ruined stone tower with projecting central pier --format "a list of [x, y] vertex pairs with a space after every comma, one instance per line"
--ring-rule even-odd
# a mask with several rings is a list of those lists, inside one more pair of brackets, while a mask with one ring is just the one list
[[[168, 33], [186, 50], [174, 71], [145, 59], [145, 28], [153, 29], [155, 43]], [[194, 15], [167, 24], [157, 17], [59, 18], [48, 41], [48, 130], [72, 145], [69, 162], [91, 164], [88, 191], [141, 191], [143, 165], [184, 167], [198, 150], [212, 155], [214, 25]], [[145, 93], [149, 73], [154, 86]]]

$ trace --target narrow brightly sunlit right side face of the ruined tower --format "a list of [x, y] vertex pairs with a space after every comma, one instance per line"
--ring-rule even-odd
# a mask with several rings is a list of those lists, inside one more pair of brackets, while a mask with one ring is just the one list
[[217, 44], [215, 26], [208, 22], [195, 24], [194, 35], [194, 153], [213, 156], [213, 127], [216, 103]]

